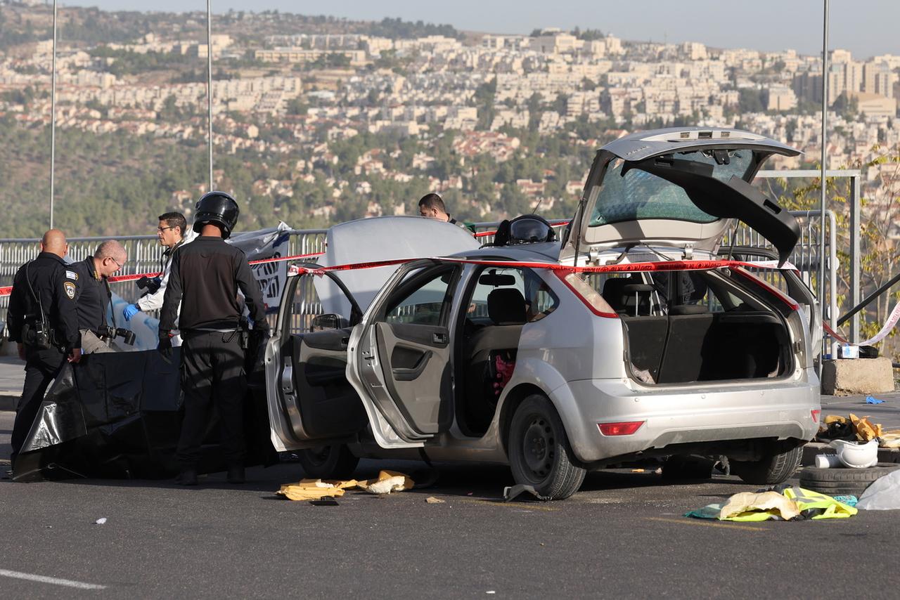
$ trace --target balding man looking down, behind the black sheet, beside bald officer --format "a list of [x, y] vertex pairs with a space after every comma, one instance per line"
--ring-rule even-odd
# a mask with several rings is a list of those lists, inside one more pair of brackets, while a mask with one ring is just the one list
[[127, 259], [125, 248], [111, 239], [97, 246], [93, 256], [71, 266], [78, 276], [75, 300], [81, 350], [85, 354], [112, 352], [108, 343], [101, 339], [102, 336], [110, 336], [106, 331], [109, 327], [106, 312], [112, 304], [108, 279], [119, 272]]

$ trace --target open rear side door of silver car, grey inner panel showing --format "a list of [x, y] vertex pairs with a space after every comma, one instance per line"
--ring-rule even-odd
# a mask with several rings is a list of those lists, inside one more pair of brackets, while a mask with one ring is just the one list
[[453, 423], [448, 324], [460, 273], [433, 260], [405, 265], [354, 328], [347, 379], [383, 448], [422, 446]]

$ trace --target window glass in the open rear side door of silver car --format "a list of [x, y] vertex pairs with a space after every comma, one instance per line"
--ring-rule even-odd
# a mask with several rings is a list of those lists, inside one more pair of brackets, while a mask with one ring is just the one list
[[407, 276], [388, 302], [384, 321], [437, 326], [446, 322], [455, 267], [421, 270]]

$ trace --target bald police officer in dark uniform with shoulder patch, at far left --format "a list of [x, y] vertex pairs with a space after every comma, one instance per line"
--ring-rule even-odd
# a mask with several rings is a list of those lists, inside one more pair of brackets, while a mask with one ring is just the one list
[[40, 239], [38, 257], [15, 273], [7, 318], [9, 338], [18, 343], [25, 361], [25, 385], [13, 425], [14, 466], [50, 381], [66, 358], [69, 363], [81, 358], [75, 308], [78, 275], [63, 261], [67, 253], [66, 236], [50, 229]]

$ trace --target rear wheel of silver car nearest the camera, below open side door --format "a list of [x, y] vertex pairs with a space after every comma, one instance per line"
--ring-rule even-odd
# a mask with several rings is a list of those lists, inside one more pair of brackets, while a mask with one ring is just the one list
[[541, 394], [528, 396], [512, 417], [509, 468], [516, 483], [548, 500], [563, 500], [581, 488], [587, 470], [574, 464], [563, 420]]

